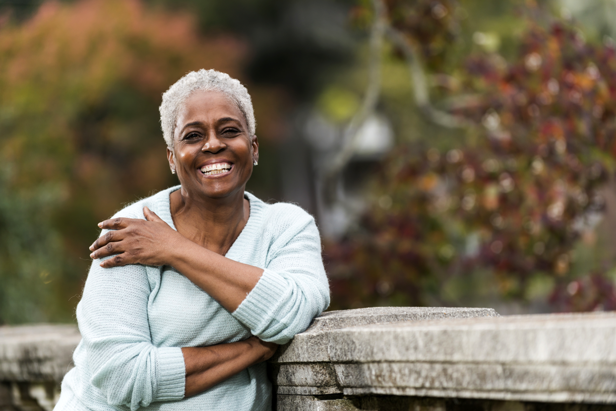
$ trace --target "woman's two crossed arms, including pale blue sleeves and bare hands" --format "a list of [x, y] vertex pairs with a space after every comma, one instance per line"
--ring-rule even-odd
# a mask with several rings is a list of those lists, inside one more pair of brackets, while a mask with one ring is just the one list
[[[94, 328], [95, 339], [89, 341], [87, 348], [94, 352], [90, 365], [95, 374], [92, 382], [107, 394], [110, 404], [131, 404], [131, 409], [136, 409], [138, 404], [173, 401], [200, 393], [268, 359], [277, 348], [275, 343], [286, 343], [304, 331], [328, 306], [328, 280], [314, 219], [291, 205], [278, 208], [276, 215], [284, 216], [285, 225], [280, 226], [282, 234], [272, 244], [275, 252], [269, 254], [264, 269], [232, 261], [188, 241], [147, 208], [147, 220], [114, 218], [100, 225], [113, 231], [103, 234], [91, 247], [92, 258], [105, 259], [92, 264], [80, 304], [91, 300], [86, 295], [92, 290], [102, 298], [123, 301], [125, 307], [118, 310], [100, 301], [89, 301], [89, 306], [81, 310], [78, 307], [77, 314], [80, 330], [82, 322]], [[132, 273], [129, 277], [139, 277], [131, 290], [131, 295], [138, 297], [135, 301], [126, 301], [127, 291], [118, 290], [117, 284], [127, 280], [123, 270], [103, 269], [128, 264], [131, 265], [126, 269]], [[219, 301], [255, 337], [206, 348], [153, 347], [144, 306], [150, 295], [145, 276], [147, 266], [163, 265], [173, 266]], [[142, 311], [144, 318], [136, 323], [132, 312]], [[103, 330], [100, 338], [105, 325], [99, 319], [104, 315], [113, 317], [118, 329], [113, 335]], [[89, 330], [84, 328], [83, 335], [88, 340]], [[118, 340], [118, 335], [123, 339]], [[109, 344], [116, 347], [111, 359], [105, 352]], [[156, 368], [156, 375], [148, 371], [159, 362], [164, 367]], [[123, 385], [120, 393], [118, 384]]]

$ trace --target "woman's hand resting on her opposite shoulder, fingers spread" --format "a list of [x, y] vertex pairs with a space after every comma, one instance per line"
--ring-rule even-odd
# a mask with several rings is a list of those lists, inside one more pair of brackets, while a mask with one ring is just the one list
[[144, 216], [146, 220], [113, 218], [100, 222], [100, 228], [112, 231], [90, 246], [90, 257], [97, 259], [117, 254], [101, 262], [103, 268], [126, 264], [167, 265], [170, 252], [185, 238], [147, 207], [144, 207]]

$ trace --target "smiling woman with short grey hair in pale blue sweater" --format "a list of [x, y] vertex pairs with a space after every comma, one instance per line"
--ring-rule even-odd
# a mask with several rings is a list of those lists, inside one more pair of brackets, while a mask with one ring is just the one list
[[55, 409], [269, 410], [263, 361], [329, 304], [317, 227], [245, 192], [259, 143], [239, 81], [188, 73], [160, 113], [180, 185], [99, 224]]

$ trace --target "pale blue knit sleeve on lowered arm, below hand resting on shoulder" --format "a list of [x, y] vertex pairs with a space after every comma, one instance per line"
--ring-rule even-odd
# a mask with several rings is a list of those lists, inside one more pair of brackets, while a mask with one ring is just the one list
[[92, 262], [77, 307], [92, 385], [110, 405], [127, 405], [132, 411], [153, 401], [182, 399], [185, 367], [181, 349], [152, 344], [146, 267], [132, 264], [103, 269], [100, 261]]

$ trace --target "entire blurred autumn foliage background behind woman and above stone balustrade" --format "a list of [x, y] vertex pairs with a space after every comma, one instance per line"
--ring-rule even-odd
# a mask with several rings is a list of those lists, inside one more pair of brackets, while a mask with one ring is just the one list
[[0, 324], [73, 319], [203, 67], [248, 86], [248, 189], [315, 214], [332, 308], [615, 309], [616, 1], [580, 4], [0, 0]]

